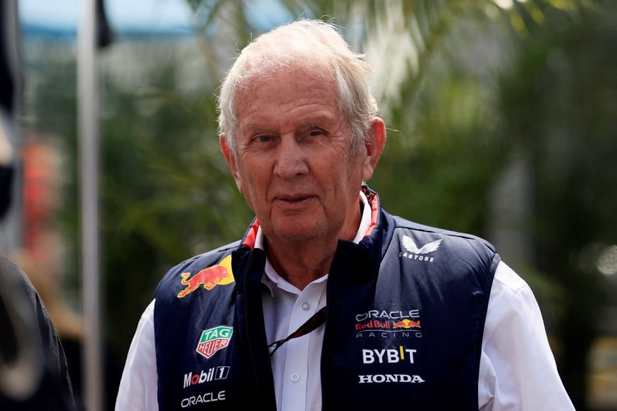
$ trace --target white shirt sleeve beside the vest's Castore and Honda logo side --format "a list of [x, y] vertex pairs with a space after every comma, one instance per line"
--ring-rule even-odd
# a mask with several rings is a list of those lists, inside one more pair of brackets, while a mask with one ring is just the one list
[[574, 410], [527, 283], [504, 262], [495, 272], [478, 381], [482, 411]]

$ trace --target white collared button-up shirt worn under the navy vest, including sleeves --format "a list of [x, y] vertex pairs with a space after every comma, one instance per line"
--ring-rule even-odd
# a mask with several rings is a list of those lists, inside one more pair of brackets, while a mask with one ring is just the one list
[[[365, 196], [354, 242], [370, 223]], [[255, 248], [262, 248], [257, 231]], [[328, 275], [304, 290], [292, 286], [266, 261], [262, 302], [268, 343], [287, 337], [326, 305]], [[116, 411], [157, 411], [154, 301], [145, 309], [130, 344]], [[290, 339], [272, 355], [279, 411], [321, 410], [320, 358], [324, 326]], [[341, 393], [345, 395], [345, 393]], [[496, 269], [482, 337], [478, 379], [482, 411], [574, 410], [552, 356], [540, 308], [529, 286], [501, 261]]]

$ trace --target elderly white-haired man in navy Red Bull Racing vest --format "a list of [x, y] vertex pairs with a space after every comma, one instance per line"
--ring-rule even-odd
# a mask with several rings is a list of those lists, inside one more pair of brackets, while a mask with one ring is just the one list
[[572, 410], [530, 289], [490, 244], [386, 213], [369, 67], [296, 21], [241, 52], [221, 148], [256, 218], [174, 267], [117, 410]]

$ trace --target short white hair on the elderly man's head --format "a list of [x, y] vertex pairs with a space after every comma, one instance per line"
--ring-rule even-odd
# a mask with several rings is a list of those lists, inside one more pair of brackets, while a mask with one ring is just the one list
[[377, 103], [367, 79], [370, 66], [363, 58], [364, 55], [350, 50], [335, 26], [320, 20], [299, 20], [260, 35], [240, 52], [223, 79], [217, 101], [218, 132], [225, 135], [228, 147], [235, 154], [238, 89], [294, 62], [322, 70], [326, 63], [332, 67], [338, 84], [338, 105], [350, 124], [355, 155], [372, 118], [377, 116]]

